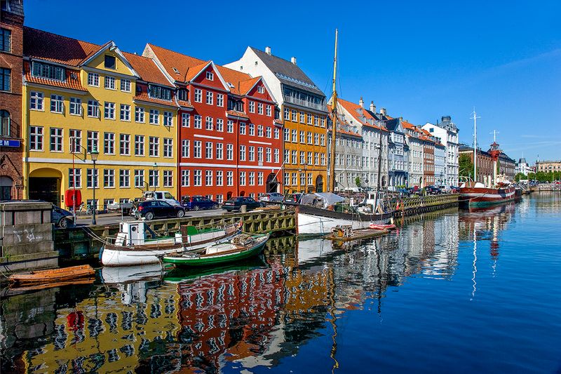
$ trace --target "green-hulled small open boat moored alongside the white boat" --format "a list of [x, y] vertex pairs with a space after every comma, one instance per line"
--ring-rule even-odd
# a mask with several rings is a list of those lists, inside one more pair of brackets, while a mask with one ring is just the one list
[[226, 243], [217, 243], [198, 251], [189, 251], [163, 257], [163, 262], [177, 267], [203, 267], [235, 262], [262, 253], [269, 234], [235, 236]]

